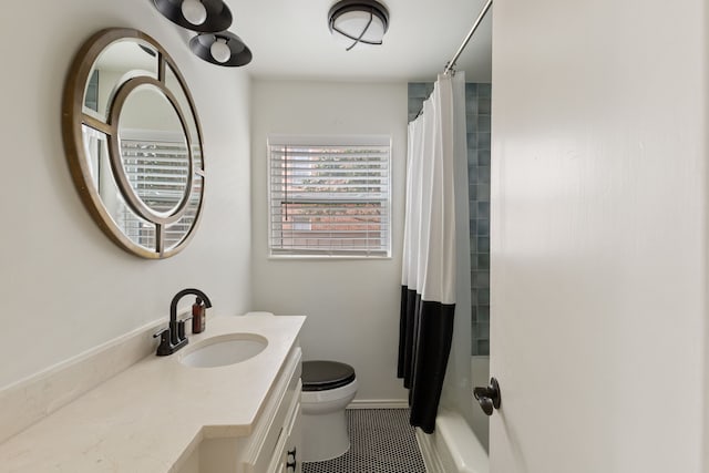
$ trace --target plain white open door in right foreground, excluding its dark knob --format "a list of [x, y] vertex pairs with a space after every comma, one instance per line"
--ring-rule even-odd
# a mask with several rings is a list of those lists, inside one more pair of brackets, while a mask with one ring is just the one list
[[491, 471], [707, 472], [706, 0], [493, 10]]

